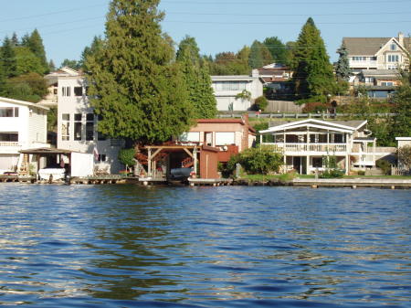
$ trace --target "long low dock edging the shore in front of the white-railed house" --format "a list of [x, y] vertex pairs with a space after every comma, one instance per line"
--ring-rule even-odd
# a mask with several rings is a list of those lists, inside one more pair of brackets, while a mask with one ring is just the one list
[[295, 178], [292, 186], [318, 187], [380, 187], [380, 188], [411, 188], [410, 179], [400, 178]]

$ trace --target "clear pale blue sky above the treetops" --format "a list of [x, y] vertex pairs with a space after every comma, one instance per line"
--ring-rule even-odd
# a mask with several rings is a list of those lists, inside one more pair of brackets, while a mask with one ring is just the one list
[[[104, 35], [110, 0], [0, 0], [0, 38], [35, 28], [56, 66]], [[311, 16], [332, 61], [342, 37], [411, 35], [411, 0], [162, 0], [163, 32], [195, 37], [201, 54], [237, 52], [255, 39], [295, 41]]]

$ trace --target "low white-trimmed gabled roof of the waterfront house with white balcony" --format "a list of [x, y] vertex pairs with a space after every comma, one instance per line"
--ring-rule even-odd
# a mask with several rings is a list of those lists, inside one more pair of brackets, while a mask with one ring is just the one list
[[276, 121], [269, 122], [269, 129], [264, 131], [259, 131], [259, 133], [274, 133], [281, 131], [289, 131], [301, 127], [312, 127], [324, 130], [334, 130], [344, 133], [353, 133], [367, 123], [364, 121], [323, 121], [316, 119], [306, 119], [301, 121]]

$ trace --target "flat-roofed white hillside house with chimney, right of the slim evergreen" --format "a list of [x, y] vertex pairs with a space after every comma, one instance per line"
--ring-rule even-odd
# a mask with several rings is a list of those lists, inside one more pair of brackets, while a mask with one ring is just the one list
[[[212, 87], [217, 101], [217, 110], [248, 111], [255, 99], [263, 95], [263, 81], [258, 76], [258, 69], [253, 69], [251, 76], [211, 76]], [[248, 91], [250, 100], [237, 99], [237, 94]]]

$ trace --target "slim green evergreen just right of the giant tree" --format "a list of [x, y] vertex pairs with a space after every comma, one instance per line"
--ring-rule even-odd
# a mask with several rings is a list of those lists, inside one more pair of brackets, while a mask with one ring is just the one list
[[188, 100], [193, 105], [195, 118], [216, 116], [216, 97], [211, 87], [211, 78], [205, 60], [200, 58], [200, 49], [194, 37], [184, 37], [176, 53], [184, 73]]

